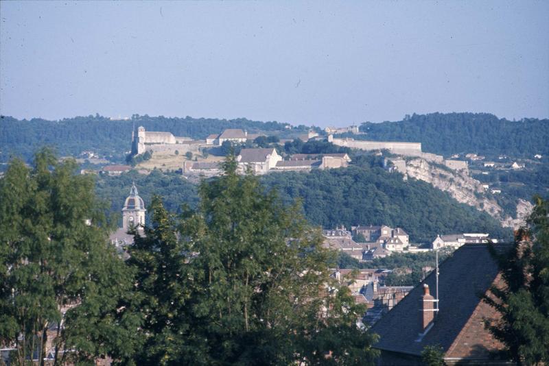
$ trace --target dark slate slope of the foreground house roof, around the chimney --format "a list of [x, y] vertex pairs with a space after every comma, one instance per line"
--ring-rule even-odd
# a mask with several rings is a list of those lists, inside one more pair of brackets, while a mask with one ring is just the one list
[[[509, 245], [498, 244], [502, 251]], [[375, 348], [404, 354], [420, 355], [426, 345], [441, 345], [447, 352], [460, 330], [479, 304], [480, 293], [485, 293], [498, 275], [498, 265], [486, 244], [465, 244], [441, 265], [439, 276], [439, 315], [434, 325], [419, 342], [419, 300], [426, 283], [435, 295], [435, 276], [431, 273], [418, 284], [397, 306], [371, 328], [379, 334]], [[495, 310], [493, 310], [495, 313]]]

